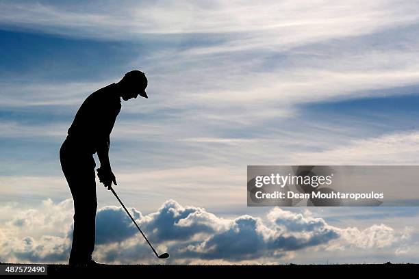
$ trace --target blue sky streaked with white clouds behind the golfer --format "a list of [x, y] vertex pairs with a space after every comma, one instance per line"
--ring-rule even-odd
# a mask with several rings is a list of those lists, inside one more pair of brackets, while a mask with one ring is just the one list
[[[419, 263], [416, 207], [246, 207], [246, 165], [419, 163], [418, 14], [392, 0], [0, 1], [0, 261], [67, 261], [60, 145], [89, 94], [140, 69], [149, 99], [123, 102], [110, 159], [167, 263]], [[94, 257], [154, 263], [99, 181], [97, 195]]]

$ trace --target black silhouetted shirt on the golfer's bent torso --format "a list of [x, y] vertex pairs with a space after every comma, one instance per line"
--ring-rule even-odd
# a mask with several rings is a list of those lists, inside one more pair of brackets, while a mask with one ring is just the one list
[[115, 86], [112, 83], [90, 94], [77, 111], [67, 136], [77, 148], [93, 154], [101, 144], [110, 145], [110, 133], [121, 107]]

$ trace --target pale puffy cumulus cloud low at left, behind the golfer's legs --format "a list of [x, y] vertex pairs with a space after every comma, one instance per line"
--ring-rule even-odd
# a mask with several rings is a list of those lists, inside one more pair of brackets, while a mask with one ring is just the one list
[[66, 261], [70, 252], [72, 200], [57, 204], [45, 200], [40, 207], [19, 211], [0, 225], [0, 261], [9, 263], [54, 263]]

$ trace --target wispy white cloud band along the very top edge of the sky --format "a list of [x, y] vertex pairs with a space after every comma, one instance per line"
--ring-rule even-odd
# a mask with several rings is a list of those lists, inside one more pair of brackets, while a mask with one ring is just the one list
[[[254, 48], [266, 47], [267, 42], [268, 46], [286, 45], [366, 34], [389, 25], [408, 24], [418, 17], [416, 3], [399, 1], [351, 1], [344, 5], [329, 0], [125, 1], [98, 6], [86, 3], [81, 12], [71, 3], [5, 2], [1, 5], [0, 19], [9, 26], [106, 39], [135, 38], [140, 34], [242, 32], [259, 35], [250, 44]], [[246, 40], [240, 39], [231, 48], [249, 45], [239, 42]]]

